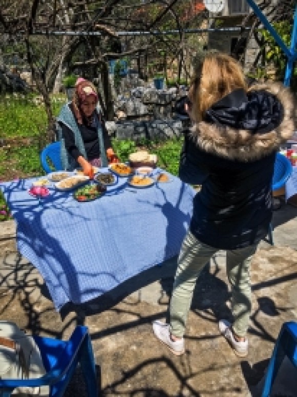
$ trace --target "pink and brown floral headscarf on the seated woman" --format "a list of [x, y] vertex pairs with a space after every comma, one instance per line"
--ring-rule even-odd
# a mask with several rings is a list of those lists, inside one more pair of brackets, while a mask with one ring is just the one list
[[[73, 111], [77, 118], [78, 124], [82, 124], [82, 116], [84, 115], [81, 110], [81, 103], [90, 95], [95, 97], [96, 102], [98, 101], [98, 95], [94, 84], [88, 80], [84, 80], [82, 77], [79, 77], [75, 84], [75, 90], [72, 99]], [[84, 115], [84, 117], [86, 116]], [[92, 122], [92, 120], [89, 120], [90, 117], [86, 118], [89, 123]], [[93, 116], [91, 118], [93, 119]]]

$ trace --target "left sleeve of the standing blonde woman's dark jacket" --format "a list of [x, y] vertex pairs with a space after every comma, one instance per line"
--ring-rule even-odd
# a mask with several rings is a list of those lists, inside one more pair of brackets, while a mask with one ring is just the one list
[[186, 133], [180, 155], [179, 177], [185, 183], [202, 185], [207, 176], [208, 170], [203, 163], [202, 152]]

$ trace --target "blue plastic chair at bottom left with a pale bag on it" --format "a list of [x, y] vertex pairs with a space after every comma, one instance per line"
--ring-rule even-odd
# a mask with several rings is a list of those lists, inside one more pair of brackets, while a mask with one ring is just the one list
[[50, 396], [62, 397], [77, 365], [80, 365], [89, 397], [98, 397], [96, 368], [88, 328], [77, 326], [69, 341], [34, 335], [47, 373], [36, 379], [0, 379], [0, 394], [11, 395], [16, 387], [50, 386]]

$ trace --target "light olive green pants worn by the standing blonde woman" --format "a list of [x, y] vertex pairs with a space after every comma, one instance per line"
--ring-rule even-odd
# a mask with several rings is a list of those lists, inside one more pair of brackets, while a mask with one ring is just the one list
[[[236, 250], [227, 250], [226, 271], [232, 292], [234, 332], [245, 336], [251, 312], [249, 268], [257, 244]], [[188, 231], [182, 243], [170, 303], [170, 329], [173, 335], [183, 336], [193, 291], [200, 271], [218, 251], [201, 243]]]

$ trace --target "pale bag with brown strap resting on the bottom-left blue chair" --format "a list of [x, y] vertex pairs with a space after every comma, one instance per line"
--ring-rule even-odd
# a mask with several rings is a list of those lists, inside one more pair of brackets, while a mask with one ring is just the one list
[[[45, 373], [40, 351], [32, 336], [26, 335], [14, 323], [0, 321], [0, 379], [40, 378]], [[16, 388], [12, 394], [48, 396], [49, 386]]]

